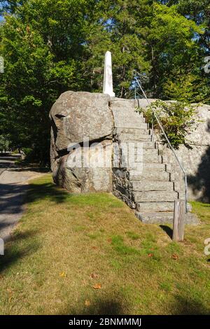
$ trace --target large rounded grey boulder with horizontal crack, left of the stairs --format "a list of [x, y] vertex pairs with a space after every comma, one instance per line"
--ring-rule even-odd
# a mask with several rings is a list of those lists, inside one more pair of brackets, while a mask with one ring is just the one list
[[107, 94], [69, 91], [52, 106], [52, 176], [72, 193], [112, 190], [113, 116], [109, 102]]

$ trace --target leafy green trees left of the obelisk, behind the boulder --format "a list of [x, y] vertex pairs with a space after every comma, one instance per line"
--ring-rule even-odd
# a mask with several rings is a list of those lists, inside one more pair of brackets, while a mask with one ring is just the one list
[[66, 90], [83, 89], [85, 3], [25, 1], [0, 26], [0, 132], [10, 134], [13, 146], [33, 148], [42, 163], [49, 158], [53, 102]]

